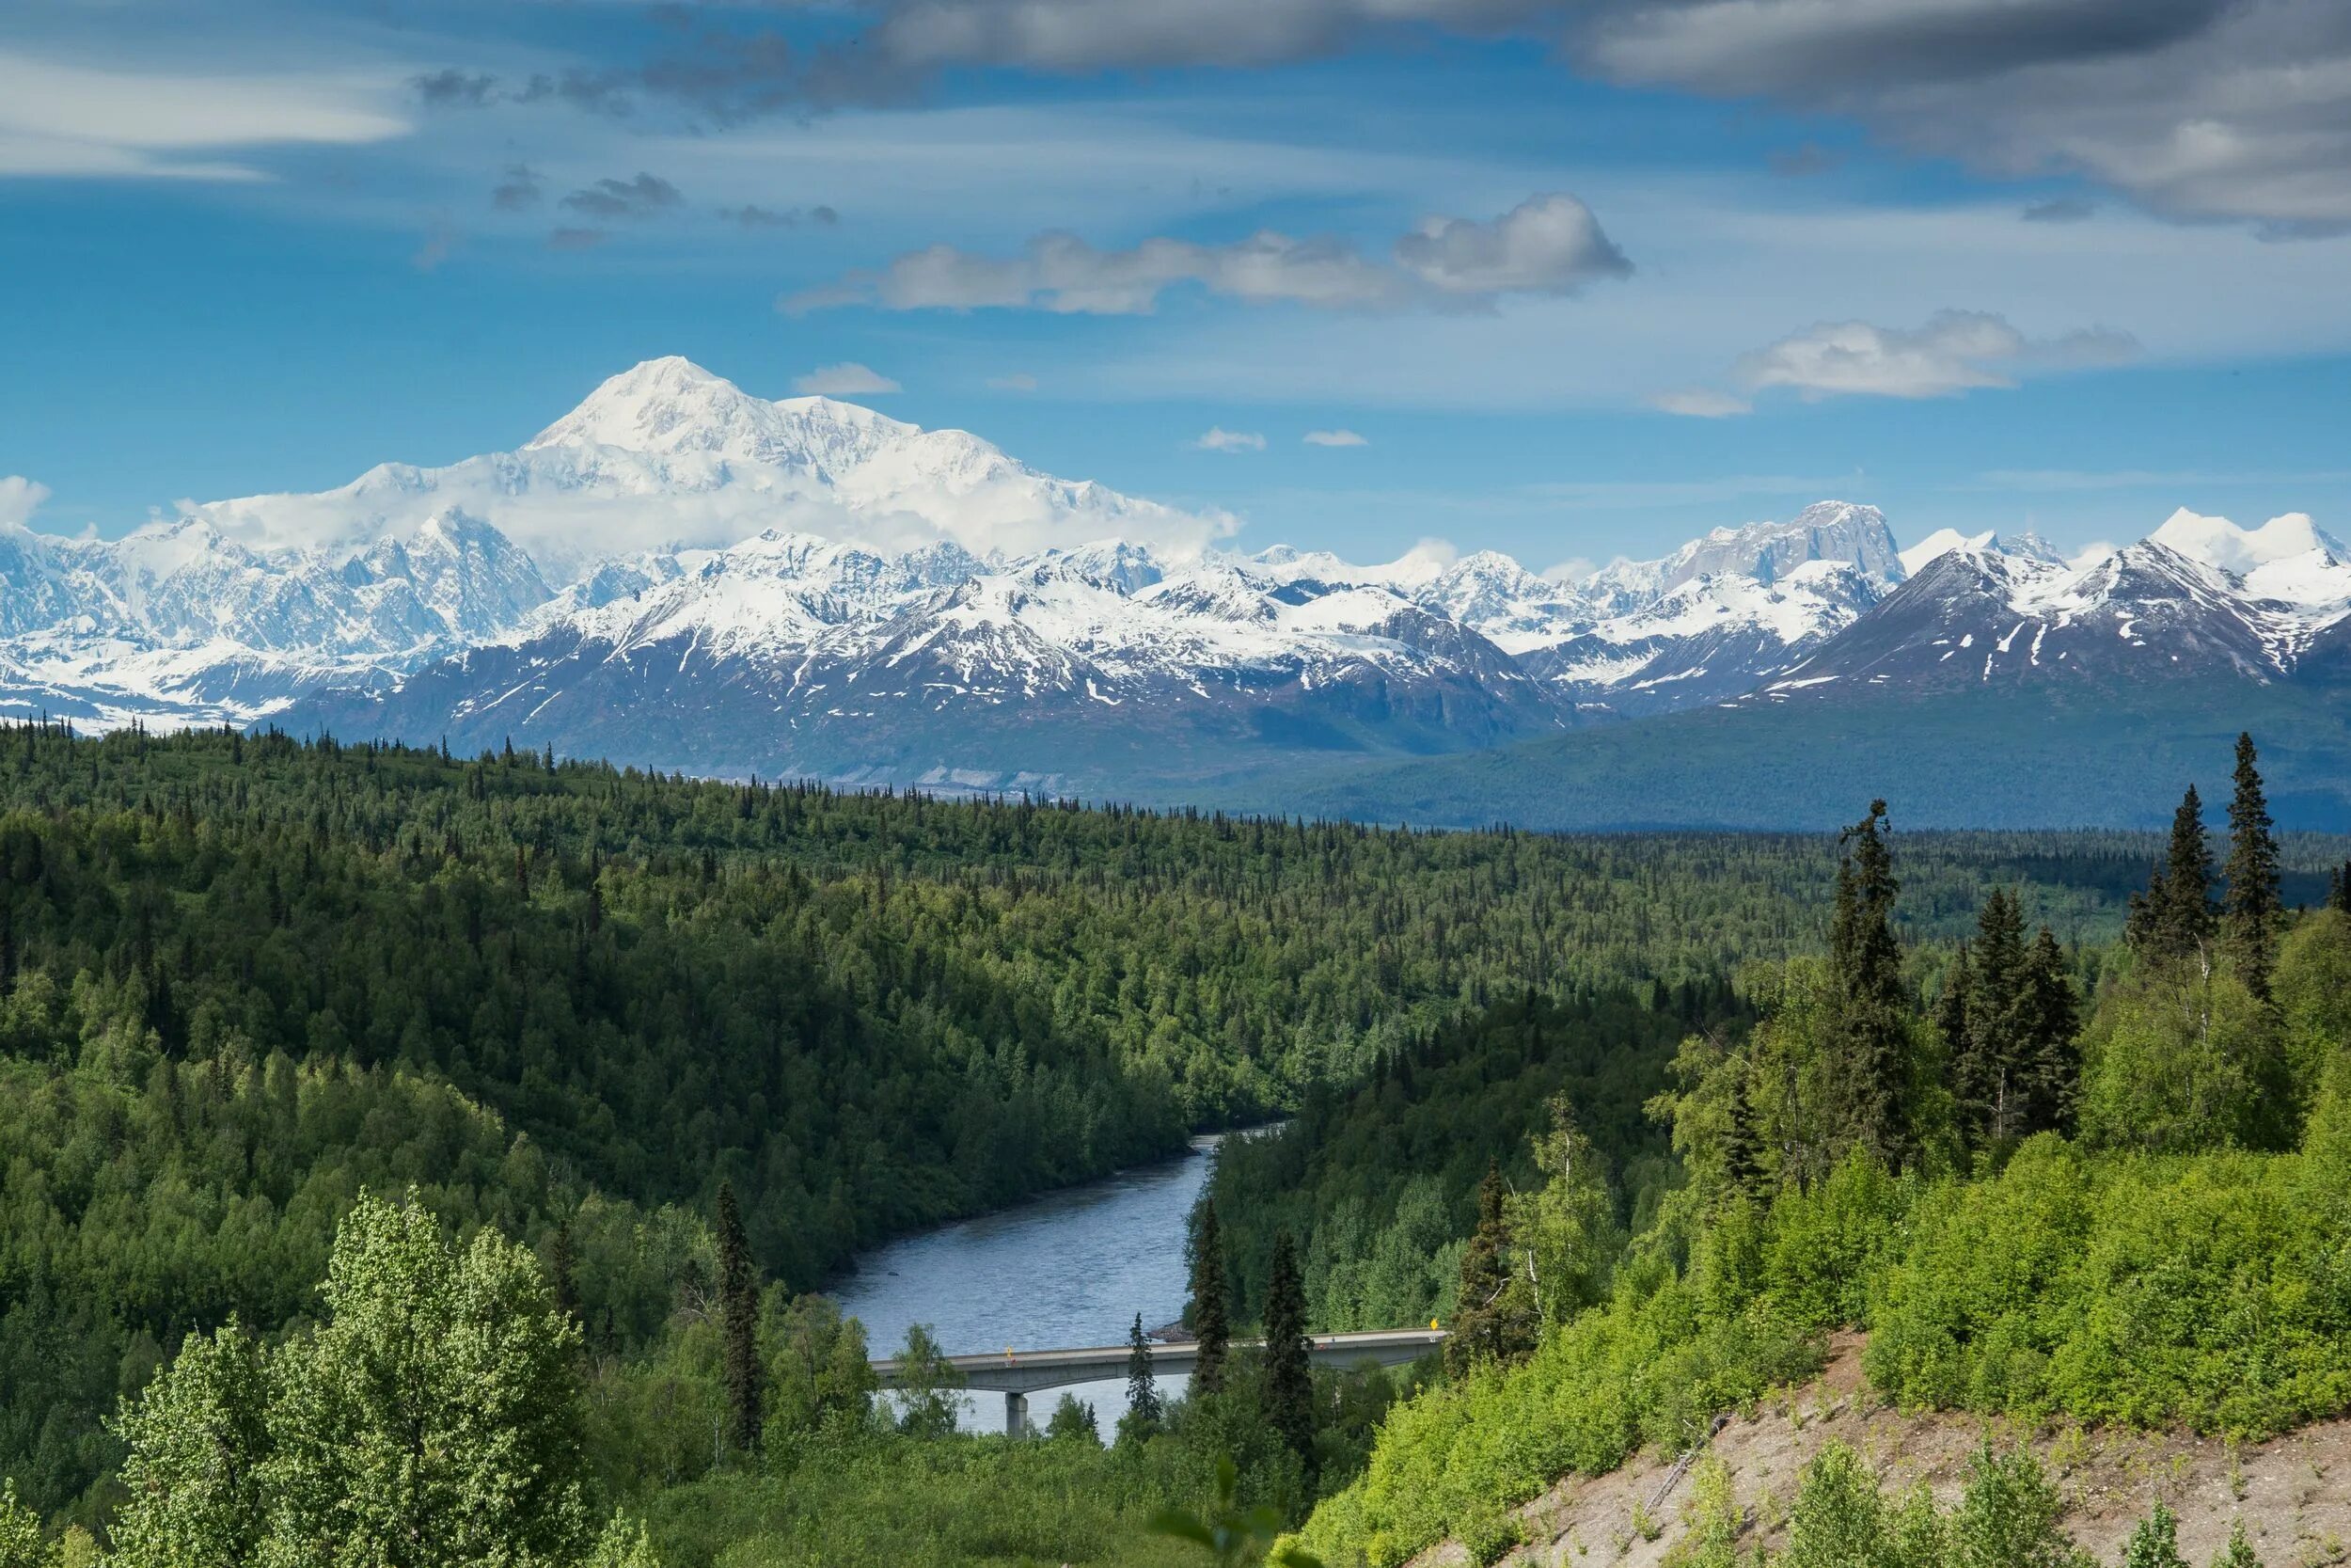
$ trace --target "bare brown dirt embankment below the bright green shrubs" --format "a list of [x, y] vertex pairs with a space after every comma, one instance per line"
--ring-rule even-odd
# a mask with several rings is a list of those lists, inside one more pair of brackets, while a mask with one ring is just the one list
[[[1944, 1505], [1958, 1497], [1968, 1453], [1984, 1434], [1970, 1415], [1902, 1415], [1862, 1378], [1862, 1342], [1838, 1338], [1822, 1375], [1770, 1394], [1754, 1418], [1733, 1415], [1712, 1453], [1730, 1469], [1749, 1526], [1742, 1544], [1782, 1544], [1796, 1479], [1827, 1443], [1843, 1439], [1876, 1462], [1890, 1488], [1925, 1481]], [[2020, 1436], [1994, 1425], [1998, 1441]], [[2156, 1500], [2179, 1514], [2179, 1549], [2208, 1563], [2245, 1521], [2266, 1568], [2351, 1561], [2351, 1422], [2325, 1422], [2269, 1443], [2231, 1446], [2189, 1434], [2083, 1432], [2074, 1425], [2022, 1434], [2050, 1467], [2071, 1512], [2067, 1530], [2099, 1561], [2121, 1554], [2130, 1526]], [[1570, 1476], [1519, 1509], [1526, 1568], [1657, 1568], [1688, 1530], [1690, 1479], [1674, 1455], [1641, 1453], [1606, 1476]], [[1422, 1554], [1425, 1568], [1467, 1563], [1458, 1544]]]

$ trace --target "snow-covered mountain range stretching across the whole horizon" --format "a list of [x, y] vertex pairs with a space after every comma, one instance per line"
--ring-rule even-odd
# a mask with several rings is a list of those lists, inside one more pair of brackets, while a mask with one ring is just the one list
[[1822, 501], [1575, 581], [1230, 527], [651, 360], [508, 454], [0, 531], [0, 710], [1176, 799], [1690, 710], [2351, 682], [2302, 515], [2067, 562]]

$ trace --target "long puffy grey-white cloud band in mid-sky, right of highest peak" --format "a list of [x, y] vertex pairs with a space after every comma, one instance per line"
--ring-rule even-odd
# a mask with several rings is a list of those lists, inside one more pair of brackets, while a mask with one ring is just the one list
[[837, 306], [884, 310], [1053, 310], [1145, 315], [1168, 289], [1190, 284], [1244, 303], [1324, 310], [1396, 310], [1413, 303], [1488, 306], [1505, 294], [1570, 294], [1594, 277], [1632, 270], [1573, 195], [1535, 195], [1493, 221], [1427, 219], [1380, 263], [1335, 237], [1293, 240], [1258, 230], [1230, 244], [1145, 240], [1096, 249], [1044, 233], [1018, 256], [980, 256], [933, 244], [879, 270], [802, 289], [788, 313]]

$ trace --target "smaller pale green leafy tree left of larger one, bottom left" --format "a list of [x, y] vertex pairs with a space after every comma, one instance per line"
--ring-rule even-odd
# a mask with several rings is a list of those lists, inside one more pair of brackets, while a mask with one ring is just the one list
[[127, 1458], [113, 1561], [122, 1568], [242, 1568], [270, 1526], [270, 1382], [261, 1345], [235, 1321], [188, 1335], [115, 1422]]

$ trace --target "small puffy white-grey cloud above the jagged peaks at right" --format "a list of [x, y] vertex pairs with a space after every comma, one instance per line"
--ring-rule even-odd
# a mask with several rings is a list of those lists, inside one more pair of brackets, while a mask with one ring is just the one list
[[1923, 327], [1820, 322], [1740, 355], [1733, 374], [1749, 390], [1791, 388], [1803, 397], [1949, 397], [2015, 386], [2029, 369], [2118, 364], [2137, 348], [2106, 327], [2034, 341], [2001, 315], [1940, 310]]

